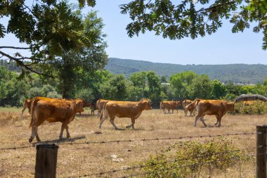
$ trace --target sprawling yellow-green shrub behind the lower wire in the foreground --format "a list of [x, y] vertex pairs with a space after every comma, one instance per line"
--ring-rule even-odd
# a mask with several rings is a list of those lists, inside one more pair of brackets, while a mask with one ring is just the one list
[[[175, 153], [173, 149], [175, 148]], [[145, 177], [199, 177], [201, 170], [226, 170], [248, 158], [228, 139], [185, 141], [145, 161]]]

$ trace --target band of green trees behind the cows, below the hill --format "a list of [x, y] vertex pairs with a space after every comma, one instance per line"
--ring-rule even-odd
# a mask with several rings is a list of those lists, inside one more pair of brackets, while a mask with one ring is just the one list
[[[80, 71], [79, 71], [80, 72]], [[241, 94], [261, 94], [267, 96], [267, 77], [261, 84], [237, 85], [223, 84], [210, 80], [208, 75], [197, 75], [186, 71], [166, 77], [159, 77], [153, 71], [135, 72], [129, 79], [124, 75], [113, 75], [108, 70], [81, 72], [83, 77], [74, 76], [67, 98], [84, 98], [91, 103], [99, 98], [117, 101], [139, 101], [150, 98], [155, 108], [159, 102], [182, 101], [185, 98], [225, 99], [233, 101]], [[31, 74], [18, 80], [20, 74], [0, 66], [0, 106], [22, 106], [25, 98], [44, 96], [65, 98], [65, 90], [58, 82], [60, 79], [46, 78]]]

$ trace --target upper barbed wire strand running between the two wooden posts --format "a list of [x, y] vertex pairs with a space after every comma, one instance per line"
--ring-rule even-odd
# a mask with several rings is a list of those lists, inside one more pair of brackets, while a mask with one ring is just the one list
[[[235, 134], [216, 134], [216, 135], [200, 135], [200, 136], [178, 136], [178, 137], [168, 137], [168, 138], [152, 138], [152, 139], [129, 139], [129, 140], [114, 140], [114, 141], [86, 141], [79, 143], [58, 143], [58, 145], [82, 145], [82, 144], [110, 144], [110, 143], [122, 143], [122, 142], [133, 142], [133, 141], [159, 141], [159, 140], [178, 140], [178, 139], [197, 139], [197, 138], [211, 138], [211, 137], [219, 137], [219, 136], [238, 136], [238, 135], [253, 135], [257, 134], [256, 132], [247, 132], [247, 133], [235, 133]], [[264, 134], [264, 133], [260, 133]], [[49, 144], [49, 143], [46, 143]], [[53, 144], [56, 144], [53, 142]], [[20, 148], [32, 148], [37, 144], [32, 144], [31, 146], [13, 146], [8, 148], [0, 148], [0, 150], [16, 150]]]

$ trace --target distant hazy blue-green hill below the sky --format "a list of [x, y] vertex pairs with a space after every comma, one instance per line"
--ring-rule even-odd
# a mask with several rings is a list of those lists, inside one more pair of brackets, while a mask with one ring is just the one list
[[155, 71], [159, 76], [170, 77], [174, 73], [192, 70], [197, 74], [207, 74], [211, 80], [233, 82], [235, 84], [262, 83], [267, 77], [267, 65], [263, 64], [226, 64], [226, 65], [179, 65], [170, 63], [152, 63], [130, 59], [109, 58], [106, 70], [114, 74], [129, 77], [133, 72]]

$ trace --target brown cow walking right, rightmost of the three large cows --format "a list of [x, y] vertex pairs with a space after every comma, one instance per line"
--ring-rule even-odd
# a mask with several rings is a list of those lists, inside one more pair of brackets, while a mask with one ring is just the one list
[[[215, 115], [217, 122], [215, 125], [221, 127], [221, 117], [226, 114], [228, 110], [234, 111], [235, 104], [233, 102], [222, 101], [222, 100], [202, 100], [202, 99], [195, 99], [193, 103], [190, 105], [195, 105], [197, 108], [197, 115], [195, 116], [194, 126], [197, 125], [197, 120], [200, 118], [203, 125], [207, 127], [204, 122], [204, 115]], [[186, 107], [188, 107], [186, 106]]]

